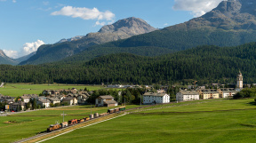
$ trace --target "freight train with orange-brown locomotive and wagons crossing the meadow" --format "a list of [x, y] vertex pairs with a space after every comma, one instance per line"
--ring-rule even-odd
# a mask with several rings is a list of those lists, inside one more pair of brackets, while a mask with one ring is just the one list
[[98, 114], [95, 113], [94, 115], [90, 115], [90, 117], [84, 117], [83, 119], [72, 119], [69, 120], [68, 122], [63, 122], [63, 123], [56, 123], [56, 124], [51, 124], [49, 128], [47, 128], [48, 132], [51, 131], [56, 131], [56, 130], [60, 130], [62, 128], [77, 124], [77, 123], [84, 123], [86, 121], [92, 120], [93, 118], [98, 118], [100, 116], [105, 116], [105, 115], [109, 115], [109, 114], [113, 114], [113, 113], [118, 113], [120, 111], [124, 111], [125, 107], [116, 107], [116, 108], [111, 108], [108, 109], [107, 113], [102, 113], [102, 114]]

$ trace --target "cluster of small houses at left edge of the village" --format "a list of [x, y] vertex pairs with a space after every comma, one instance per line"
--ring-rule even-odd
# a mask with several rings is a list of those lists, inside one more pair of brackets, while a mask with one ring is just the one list
[[[44, 90], [42, 96], [37, 94], [24, 94], [20, 96], [19, 99], [10, 96], [0, 95], [0, 102], [6, 103], [6, 110], [18, 111], [24, 110], [26, 105], [31, 102], [31, 99], [36, 100], [36, 105], [40, 107], [51, 107], [51, 105], [62, 104], [62, 105], [77, 105], [86, 104], [86, 99], [90, 97], [87, 91], [78, 91], [76, 88], [71, 90], [58, 90], [58, 91], [48, 91]], [[16, 99], [16, 101], [15, 101]], [[29, 109], [29, 108], [27, 108]]]

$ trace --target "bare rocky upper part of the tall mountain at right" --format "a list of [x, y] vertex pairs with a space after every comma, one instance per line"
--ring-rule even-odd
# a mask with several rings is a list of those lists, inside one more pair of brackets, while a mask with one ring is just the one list
[[255, 0], [226, 0], [202, 17], [189, 20], [188, 28], [256, 29]]

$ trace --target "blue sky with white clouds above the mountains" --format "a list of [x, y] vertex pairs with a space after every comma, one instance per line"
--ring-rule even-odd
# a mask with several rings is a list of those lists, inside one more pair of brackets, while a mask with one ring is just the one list
[[211, 11], [221, 0], [0, 0], [0, 49], [17, 58], [41, 44], [85, 36], [102, 25], [136, 17], [155, 28]]

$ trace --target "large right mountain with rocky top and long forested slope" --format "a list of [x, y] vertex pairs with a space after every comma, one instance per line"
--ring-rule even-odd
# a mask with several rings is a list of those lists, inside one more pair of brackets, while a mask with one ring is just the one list
[[[92, 60], [108, 53], [130, 52], [157, 56], [183, 51], [198, 45], [236, 46], [256, 41], [255, 0], [222, 1], [211, 12], [148, 34], [95, 45], [64, 62]], [[148, 53], [149, 52], [149, 53]]]

